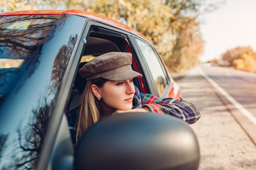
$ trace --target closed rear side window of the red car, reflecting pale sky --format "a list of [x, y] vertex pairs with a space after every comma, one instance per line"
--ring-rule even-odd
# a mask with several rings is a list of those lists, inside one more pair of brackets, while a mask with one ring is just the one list
[[148, 43], [138, 38], [135, 38], [135, 40], [144, 55], [146, 63], [148, 64], [151, 75], [153, 76], [157, 86], [157, 91], [159, 95], [162, 95], [168, 83], [164, 67], [159, 61], [158, 55]]

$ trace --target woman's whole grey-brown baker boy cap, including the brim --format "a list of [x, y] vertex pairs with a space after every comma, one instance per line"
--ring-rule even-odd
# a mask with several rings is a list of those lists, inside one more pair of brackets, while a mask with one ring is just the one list
[[87, 80], [102, 77], [113, 81], [123, 81], [142, 77], [140, 73], [132, 70], [131, 64], [131, 53], [110, 52], [99, 55], [86, 63], [80, 68], [79, 74]]

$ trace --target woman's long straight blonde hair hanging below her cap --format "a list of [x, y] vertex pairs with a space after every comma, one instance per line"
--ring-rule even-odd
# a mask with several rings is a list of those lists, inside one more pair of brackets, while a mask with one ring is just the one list
[[80, 107], [78, 110], [76, 122], [76, 143], [83, 135], [83, 133], [90, 128], [93, 124], [95, 124], [100, 119], [100, 107], [99, 107], [99, 100], [94, 96], [92, 93], [91, 86], [95, 84], [98, 87], [102, 87], [107, 79], [98, 78], [89, 80], [86, 83], [85, 89], [81, 95], [80, 99]]

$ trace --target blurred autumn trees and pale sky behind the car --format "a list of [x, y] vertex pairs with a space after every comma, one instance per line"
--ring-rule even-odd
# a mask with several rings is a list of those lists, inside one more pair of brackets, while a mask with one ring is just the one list
[[145, 35], [171, 73], [202, 62], [255, 73], [255, 5], [255, 0], [1, 0], [0, 11], [91, 11]]

